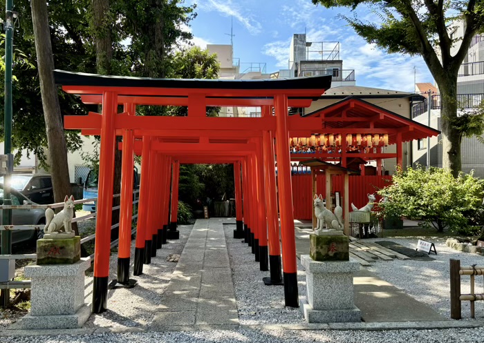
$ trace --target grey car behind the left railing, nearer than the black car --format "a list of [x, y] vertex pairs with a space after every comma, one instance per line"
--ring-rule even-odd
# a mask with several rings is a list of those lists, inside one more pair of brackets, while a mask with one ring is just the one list
[[[10, 190], [10, 199], [12, 205], [32, 204], [27, 197], [19, 193], [15, 189]], [[0, 184], [0, 205], [3, 205], [3, 184]], [[0, 210], [0, 221], [3, 219], [3, 211]], [[44, 229], [46, 224], [46, 210], [41, 208], [21, 208], [12, 210], [12, 224], [13, 225], [39, 225], [39, 231]], [[37, 239], [37, 230], [14, 230], [12, 231], [12, 244], [29, 241], [30, 239]]]

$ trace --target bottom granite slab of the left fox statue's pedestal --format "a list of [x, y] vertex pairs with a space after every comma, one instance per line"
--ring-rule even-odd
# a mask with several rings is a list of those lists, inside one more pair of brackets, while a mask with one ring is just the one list
[[91, 307], [84, 305], [73, 315], [26, 315], [10, 326], [13, 330], [79, 329], [91, 315]]

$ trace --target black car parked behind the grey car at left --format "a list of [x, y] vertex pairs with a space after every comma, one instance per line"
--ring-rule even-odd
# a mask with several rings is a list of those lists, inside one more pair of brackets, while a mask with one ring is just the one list
[[[3, 177], [0, 177], [3, 184]], [[54, 203], [52, 177], [46, 174], [14, 174], [10, 187], [25, 195], [31, 202], [46, 205]]]

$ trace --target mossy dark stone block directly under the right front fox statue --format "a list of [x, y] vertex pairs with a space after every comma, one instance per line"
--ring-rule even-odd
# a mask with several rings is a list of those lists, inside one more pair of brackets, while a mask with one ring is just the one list
[[319, 236], [310, 234], [309, 255], [315, 261], [349, 261], [348, 236]]

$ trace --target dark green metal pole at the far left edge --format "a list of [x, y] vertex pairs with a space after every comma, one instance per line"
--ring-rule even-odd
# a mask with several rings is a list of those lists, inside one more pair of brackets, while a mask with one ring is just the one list
[[[10, 175], [12, 173], [12, 45], [13, 26], [17, 13], [12, 11], [13, 0], [6, 0], [5, 6], [5, 112], [4, 125], [5, 137], [3, 140], [3, 153], [6, 157], [6, 169], [3, 170], [3, 205], [11, 205], [10, 199]], [[3, 161], [5, 161], [3, 159]], [[2, 225], [12, 225], [12, 210], [2, 210]], [[12, 231], [1, 231], [1, 253], [12, 253]], [[10, 298], [10, 290], [2, 289], [0, 302], [5, 308]]]

